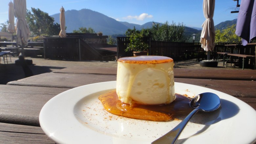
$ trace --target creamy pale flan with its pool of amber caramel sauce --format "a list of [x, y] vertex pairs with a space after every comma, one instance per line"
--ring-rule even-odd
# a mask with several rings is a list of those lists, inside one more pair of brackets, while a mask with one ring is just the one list
[[124, 57], [117, 61], [116, 90], [99, 96], [104, 109], [135, 119], [167, 121], [189, 114], [190, 99], [175, 94], [169, 57]]

